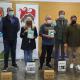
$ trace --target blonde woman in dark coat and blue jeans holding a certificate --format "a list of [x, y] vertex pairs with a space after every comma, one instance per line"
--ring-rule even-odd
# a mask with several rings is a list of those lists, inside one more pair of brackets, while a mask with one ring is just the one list
[[33, 26], [31, 17], [27, 17], [25, 26], [21, 28], [20, 37], [22, 38], [21, 49], [24, 50], [24, 61], [32, 61], [32, 51], [36, 48], [35, 39], [37, 38], [37, 29]]

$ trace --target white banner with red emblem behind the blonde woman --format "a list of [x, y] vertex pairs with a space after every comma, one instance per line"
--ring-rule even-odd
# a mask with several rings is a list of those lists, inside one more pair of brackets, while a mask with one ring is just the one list
[[[38, 31], [38, 14], [39, 14], [39, 5], [36, 4], [16, 4], [16, 16], [19, 18], [20, 27], [25, 25], [25, 20], [28, 16], [33, 18], [34, 26], [36, 26]], [[20, 31], [18, 33], [17, 39], [17, 50], [16, 50], [16, 59], [23, 59], [24, 52], [21, 50], [21, 42]], [[36, 49], [33, 51], [33, 58], [38, 59], [38, 39], [36, 39]]]

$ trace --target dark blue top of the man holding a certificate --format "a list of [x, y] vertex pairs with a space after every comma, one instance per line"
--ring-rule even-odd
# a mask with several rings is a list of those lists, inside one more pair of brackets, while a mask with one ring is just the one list
[[[39, 34], [40, 35], [43, 35], [43, 34], [48, 35], [48, 29], [54, 29], [54, 26], [42, 24], [40, 27]], [[43, 45], [54, 45], [54, 38], [47, 38], [47, 37], [42, 36], [42, 44]]]

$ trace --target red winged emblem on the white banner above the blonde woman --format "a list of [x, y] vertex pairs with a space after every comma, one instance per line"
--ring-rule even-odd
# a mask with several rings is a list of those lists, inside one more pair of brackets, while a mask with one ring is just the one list
[[35, 15], [36, 15], [36, 10], [35, 9], [24, 7], [24, 8], [21, 8], [19, 11], [20, 11], [21, 22], [24, 22], [24, 20], [27, 17], [31, 17], [32, 20], [34, 20]]

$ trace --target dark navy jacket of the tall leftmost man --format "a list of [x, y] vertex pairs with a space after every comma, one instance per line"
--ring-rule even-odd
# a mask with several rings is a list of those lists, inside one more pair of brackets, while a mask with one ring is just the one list
[[8, 15], [2, 19], [3, 26], [3, 39], [4, 40], [16, 40], [17, 32], [20, 29], [19, 20], [17, 17], [13, 16], [10, 18]]

